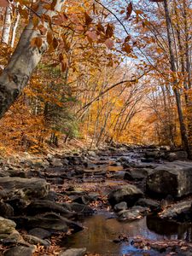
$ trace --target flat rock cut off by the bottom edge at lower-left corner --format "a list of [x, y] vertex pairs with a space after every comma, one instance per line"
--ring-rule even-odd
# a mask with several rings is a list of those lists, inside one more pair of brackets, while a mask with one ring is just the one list
[[12, 247], [8, 250], [6, 250], [3, 253], [3, 256], [32, 256], [32, 253], [34, 253], [36, 250], [36, 247], [23, 247], [23, 246], [17, 246]]

